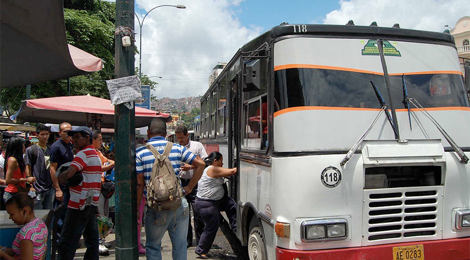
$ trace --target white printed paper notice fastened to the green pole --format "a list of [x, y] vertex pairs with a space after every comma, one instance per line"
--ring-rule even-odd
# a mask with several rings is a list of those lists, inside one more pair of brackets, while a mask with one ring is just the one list
[[122, 104], [142, 99], [140, 78], [137, 75], [106, 80], [111, 104]]

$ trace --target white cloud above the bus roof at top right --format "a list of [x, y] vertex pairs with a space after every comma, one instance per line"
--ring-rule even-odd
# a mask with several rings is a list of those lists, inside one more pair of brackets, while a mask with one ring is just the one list
[[470, 14], [468, 0], [340, 0], [340, 8], [326, 14], [323, 23], [345, 24], [354, 20], [356, 25], [369, 25], [442, 32], [453, 27], [462, 16]]

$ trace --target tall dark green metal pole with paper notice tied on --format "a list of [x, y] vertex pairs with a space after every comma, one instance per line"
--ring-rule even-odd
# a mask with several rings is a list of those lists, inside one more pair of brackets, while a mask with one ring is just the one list
[[[116, 28], [134, 27], [134, 0], [116, 0]], [[128, 30], [127, 30], [128, 31]], [[134, 74], [134, 47], [122, 46], [122, 35], [114, 42], [116, 77]], [[137, 260], [137, 189], [135, 176], [135, 108], [114, 106], [115, 138], [115, 230], [117, 260]]]

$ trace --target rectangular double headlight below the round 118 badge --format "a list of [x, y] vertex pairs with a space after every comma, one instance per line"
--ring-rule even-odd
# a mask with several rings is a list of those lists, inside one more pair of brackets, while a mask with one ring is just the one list
[[347, 220], [344, 218], [306, 220], [300, 224], [304, 242], [340, 240], [347, 237]]

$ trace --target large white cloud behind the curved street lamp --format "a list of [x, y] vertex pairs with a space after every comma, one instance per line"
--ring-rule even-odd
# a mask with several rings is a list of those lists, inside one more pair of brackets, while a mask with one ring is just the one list
[[[147, 15], [142, 26], [142, 72], [163, 77], [152, 78], [159, 83], [153, 93], [156, 98], [203, 94], [212, 67], [227, 62], [239, 47], [260, 34], [259, 28], [244, 27], [234, 16], [232, 9], [239, 2], [178, 0], [170, 4], [183, 4], [186, 9], [162, 6]], [[136, 3], [145, 10], [157, 5], [152, 0]], [[139, 35], [135, 44], [139, 46]], [[138, 66], [139, 56], [135, 58]]]

